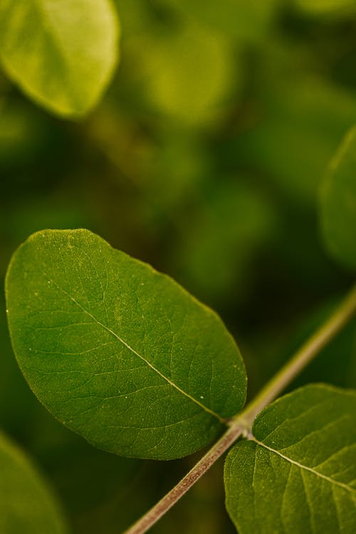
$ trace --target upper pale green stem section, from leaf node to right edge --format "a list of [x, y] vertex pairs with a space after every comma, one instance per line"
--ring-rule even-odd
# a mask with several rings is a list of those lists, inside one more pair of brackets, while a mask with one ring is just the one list
[[246, 426], [251, 426], [256, 415], [268, 406], [290, 382], [318, 355], [328, 342], [342, 330], [347, 321], [356, 313], [356, 285], [350, 293], [337, 306], [331, 317], [295, 352], [281, 370], [264, 386], [258, 395], [244, 409], [244, 412], [236, 416], [237, 420], [243, 420]]

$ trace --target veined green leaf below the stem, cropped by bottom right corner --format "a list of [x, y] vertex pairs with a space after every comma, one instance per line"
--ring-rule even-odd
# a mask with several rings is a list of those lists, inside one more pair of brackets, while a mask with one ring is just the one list
[[239, 534], [352, 534], [356, 393], [296, 389], [258, 415], [226, 458], [226, 508]]

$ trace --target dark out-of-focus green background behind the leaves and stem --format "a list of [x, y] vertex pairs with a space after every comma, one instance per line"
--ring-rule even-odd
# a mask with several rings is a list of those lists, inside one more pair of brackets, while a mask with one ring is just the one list
[[[169, 273], [236, 337], [252, 396], [352, 281], [323, 250], [318, 190], [356, 123], [356, 4], [115, 0], [122, 61], [80, 122], [0, 72], [0, 276], [33, 231], [86, 227]], [[91, 448], [28, 389], [0, 296], [0, 426], [73, 533], [119, 533], [194, 464]], [[356, 386], [355, 322], [298, 384]], [[295, 386], [296, 384], [294, 384]], [[232, 533], [221, 461], [152, 533]]]

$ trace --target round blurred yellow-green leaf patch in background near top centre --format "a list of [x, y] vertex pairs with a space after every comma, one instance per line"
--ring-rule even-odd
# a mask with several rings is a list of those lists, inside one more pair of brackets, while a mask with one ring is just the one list
[[[197, 23], [138, 41], [145, 98], [152, 108], [185, 125], [208, 123], [226, 107], [241, 64], [224, 36]], [[136, 43], [137, 46], [137, 43]]]

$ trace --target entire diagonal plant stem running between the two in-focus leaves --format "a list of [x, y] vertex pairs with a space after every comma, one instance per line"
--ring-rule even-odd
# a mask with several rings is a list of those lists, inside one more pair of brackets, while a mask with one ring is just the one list
[[224, 454], [227, 449], [239, 438], [248, 436], [256, 415], [261, 412], [273, 399], [276, 399], [283, 389], [298, 376], [308, 363], [313, 360], [320, 350], [340, 332], [342, 327], [356, 313], [356, 285], [348, 293], [345, 300], [336, 308], [331, 317], [295, 352], [295, 355], [282, 367], [282, 369], [266, 384], [257, 397], [244, 409], [231, 419], [229, 429], [216, 441], [211, 449], [187, 473], [177, 486], [167, 493], [150, 511], [132, 525], [125, 534], [145, 534], [169, 508], [179, 501], [212, 464]]

